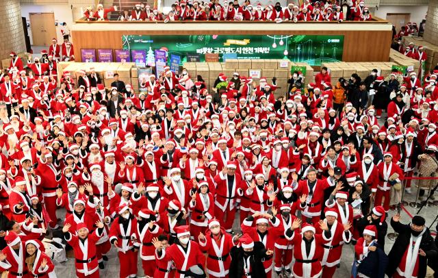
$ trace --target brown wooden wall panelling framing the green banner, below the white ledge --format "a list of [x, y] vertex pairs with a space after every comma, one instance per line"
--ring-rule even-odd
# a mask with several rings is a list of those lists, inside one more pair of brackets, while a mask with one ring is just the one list
[[[127, 25], [129, 26], [129, 25]], [[211, 31], [71, 31], [75, 57], [81, 62], [81, 49], [121, 49], [123, 35], [194, 35], [194, 34], [215, 34], [215, 35], [344, 35], [344, 62], [387, 62], [389, 60], [389, 49], [391, 45], [391, 31], [259, 31], [259, 30], [211, 30]]]

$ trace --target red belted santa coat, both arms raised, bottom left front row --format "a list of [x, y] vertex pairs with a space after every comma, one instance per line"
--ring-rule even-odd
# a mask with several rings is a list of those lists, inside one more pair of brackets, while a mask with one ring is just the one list
[[70, 233], [70, 238], [67, 242], [75, 251], [75, 268], [77, 273], [87, 276], [99, 271], [96, 259], [96, 242], [99, 241], [101, 236], [98, 233], [98, 229], [96, 229], [96, 231], [88, 233], [86, 240], [82, 241], [78, 236]]

